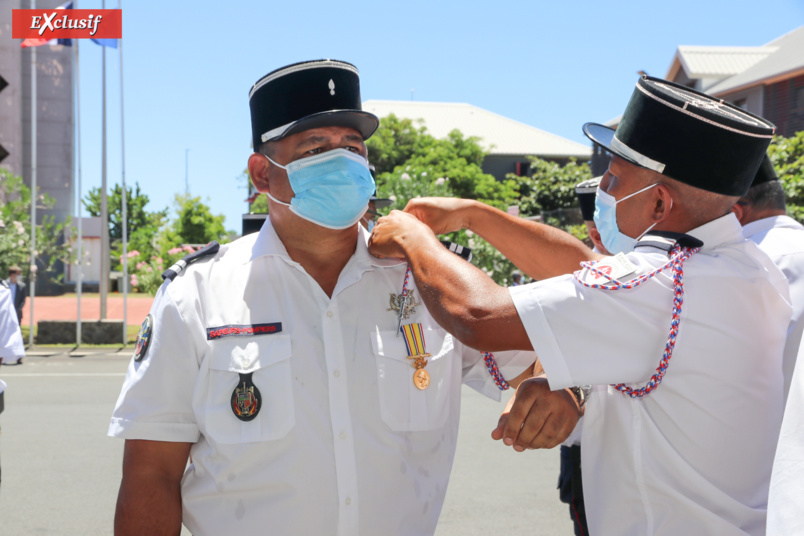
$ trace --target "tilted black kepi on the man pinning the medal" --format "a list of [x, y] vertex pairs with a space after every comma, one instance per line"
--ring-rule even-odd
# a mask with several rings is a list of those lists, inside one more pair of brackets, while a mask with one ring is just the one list
[[643, 76], [616, 131], [596, 123], [583, 131], [633, 164], [696, 188], [743, 196], [775, 128], [722, 99]]

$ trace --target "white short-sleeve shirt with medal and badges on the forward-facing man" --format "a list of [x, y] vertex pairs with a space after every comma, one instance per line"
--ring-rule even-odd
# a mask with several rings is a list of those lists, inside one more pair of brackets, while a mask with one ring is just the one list
[[[378, 260], [360, 227], [330, 299], [292, 261], [267, 222], [165, 284], [144, 359], [133, 361], [109, 434], [194, 443], [182, 482], [195, 536], [431, 534], [455, 454], [461, 384], [499, 398], [479, 352], [423, 305], [430, 386], [413, 384], [398, 337], [404, 264]], [[410, 289], [418, 299], [413, 278]], [[272, 325], [269, 333], [209, 330]], [[532, 352], [497, 355], [507, 378]], [[232, 393], [251, 374], [262, 406], [235, 417]]]

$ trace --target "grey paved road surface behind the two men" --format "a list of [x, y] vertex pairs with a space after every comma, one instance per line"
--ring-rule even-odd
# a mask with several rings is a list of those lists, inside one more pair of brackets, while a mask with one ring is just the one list
[[[0, 533], [112, 533], [123, 442], [106, 437], [106, 428], [130, 355], [29, 355], [0, 368], [9, 385], [0, 415]], [[555, 490], [558, 452], [518, 454], [489, 439], [502, 406], [464, 388], [436, 535], [572, 534]]]

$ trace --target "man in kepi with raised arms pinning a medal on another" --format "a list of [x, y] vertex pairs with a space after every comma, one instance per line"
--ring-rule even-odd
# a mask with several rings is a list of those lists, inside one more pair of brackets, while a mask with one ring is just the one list
[[[565, 435], [542, 395], [589, 393], [591, 534], [765, 532], [791, 308], [784, 276], [730, 209], [773, 131], [705, 94], [640, 79], [616, 132], [584, 126], [614, 155], [595, 213], [604, 246], [624, 253], [614, 257], [468, 200], [412, 200], [374, 229], [370, 251], [406, 258], [430, 311], [459, 340], [536, 350], [547, 379], [520, 385], [492, 437], [516, 450], [554, 446]], [[435, 247], [436, 233], [461, 227], [527, 274], [545, 264], [567, 273], [573, 257], [597, 262], [502, 288]]]

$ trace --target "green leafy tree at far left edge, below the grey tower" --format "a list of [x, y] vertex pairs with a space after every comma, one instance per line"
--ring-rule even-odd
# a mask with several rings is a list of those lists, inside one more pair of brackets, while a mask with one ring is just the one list
[[[55, 200], [47, 194], [37, 196], [37, 209], [49, 209]], [[26, 267], [31, 259], [31, 189], [22, 177], [0, 168], [0, 274], [6, 277], [8, 267]], [[42, 283], [59, 281], [63, 274], [54, 270], [56, 263], [70, 262], [70, 245], [65, 231], [70, 232], [70, 221], [56, 223], [53, 216], [45, 216], [36, 226], [36, 266]]]

